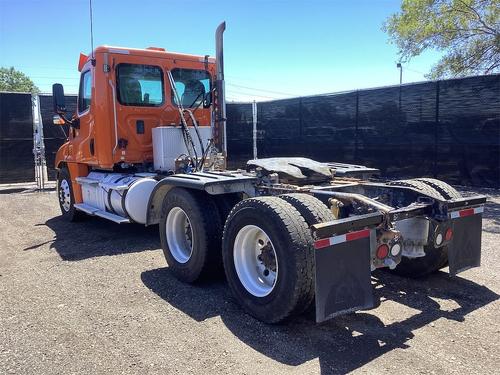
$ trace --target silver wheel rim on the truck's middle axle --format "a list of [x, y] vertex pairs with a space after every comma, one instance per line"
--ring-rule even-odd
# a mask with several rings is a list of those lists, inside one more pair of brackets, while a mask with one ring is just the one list
[[165, 223], [170, 254], [179, 263], [187, 263], [193, 254], [194, 236], [189, 217], [180, 207], [174, 207]]

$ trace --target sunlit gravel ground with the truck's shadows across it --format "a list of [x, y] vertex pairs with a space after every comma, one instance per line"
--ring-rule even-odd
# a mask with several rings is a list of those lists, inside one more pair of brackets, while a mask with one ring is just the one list
[[53, 191], [0, 191], [0, 374], [498, 373], [500, 191], [481, 192], [481, 268], [376, 273], [374, 310], [269, 326], [223, 279], [177, 281], [156, 227], [67, 223]]

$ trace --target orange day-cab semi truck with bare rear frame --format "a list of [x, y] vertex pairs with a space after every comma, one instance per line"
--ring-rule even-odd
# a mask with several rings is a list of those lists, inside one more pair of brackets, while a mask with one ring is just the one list
[[225, 28], [215, 57], [158, 47], [82, 54], [71, 116], [53, 85], [54, 124], [69, 129], [55, 161], [63, 218], [158, 225], [175, 277], [225, 274], [266, 323], [310, 308], [317, 322], [372, 308], [379, 268], [420, 277], [480, 265], [484, 196], [302, 157], [227, 168]]

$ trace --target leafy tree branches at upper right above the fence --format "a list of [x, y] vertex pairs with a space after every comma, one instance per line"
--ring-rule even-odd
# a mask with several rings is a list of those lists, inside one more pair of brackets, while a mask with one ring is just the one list
[[492, 74], [500, 68], [500, 0], [403, 0], [383, 26], [401, 62], [443, 52], [429, 78]]

